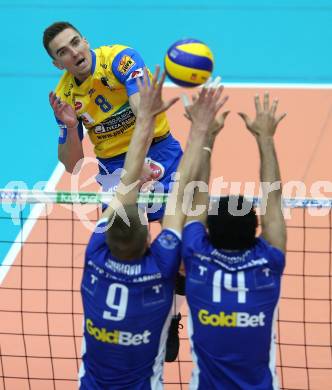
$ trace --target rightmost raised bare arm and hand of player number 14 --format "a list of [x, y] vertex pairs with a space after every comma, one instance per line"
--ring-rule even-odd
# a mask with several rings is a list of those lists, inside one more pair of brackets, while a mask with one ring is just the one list
[[282, 214], [281, 179], [278, 159], [274, 147], [274, 134], [279, 122], [286, 114], [276, 115], [278, 101], [270, 107], [269, 93], [265, 92], [263, 106], [259, 96], [255, 96], [256, 118], [239, 113], [247, 129], [256, 139], [260, 155], [260, 180], [266, 211], [261, 216], [262, 236], [274, 247], [286, 250], [286, 226]]

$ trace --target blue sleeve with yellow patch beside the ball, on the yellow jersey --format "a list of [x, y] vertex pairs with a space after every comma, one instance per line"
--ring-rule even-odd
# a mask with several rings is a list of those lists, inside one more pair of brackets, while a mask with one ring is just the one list
[[138, 92], [136, 79], [143, 77], [144, 67], [142, 57], [134, 49], [126, 48], [114, 57], [112, 72], [120, 83], [124, 84], [128, 96]]

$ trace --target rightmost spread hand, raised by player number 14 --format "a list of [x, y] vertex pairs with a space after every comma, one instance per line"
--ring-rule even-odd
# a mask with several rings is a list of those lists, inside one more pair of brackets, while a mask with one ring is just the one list
[[244, 112], [238, 114], [243, 119], [247, 129], [255, 136], [273, 137], [278, 124], [285, 118], [287, 113], [276, 115], [278, 100], [274, 99], [270, 107], [270, 96], [268, 92], [264, 93], [263, 107], [259, 99], [259, 95], [255, 98], [256, 118], [251, 120]]

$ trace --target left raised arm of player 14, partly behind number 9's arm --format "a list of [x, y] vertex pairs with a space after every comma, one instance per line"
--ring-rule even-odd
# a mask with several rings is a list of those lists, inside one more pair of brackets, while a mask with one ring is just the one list
[[[211, 173], [211, 155], [214, 147], [214, 142], [219, 134], [219, 132], [223, 129], [225, 124], [225, 119], [229, 111], [223, 112], [219, 118], [216, 118], [214, 122], [211, 124], [208, 130], [208, 135], [206, 138], [205, 146], [202, 148], [202, 152], [200, 154], [200, 170], [195, 180], [198, 182], [202, 182], [208, 188], [210, 181], [210, 173]], [[196, 210], [197, 208], [202, 209], [202, 212], [198, 215], [187, 216], [186, 223], [190, 221], [200, 221], [205, 224], [208, 209], [209, 209], [209, 192], [207, 191], [199, 191], [198, 188], [195, 189], [192, 209]]]

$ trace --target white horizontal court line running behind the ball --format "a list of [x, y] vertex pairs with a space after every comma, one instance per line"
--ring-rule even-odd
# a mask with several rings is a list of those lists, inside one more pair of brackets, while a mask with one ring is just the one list
[[[296, 84], [296, 83], [223, 83], [226, 88], [262, 88], [262, 89], [332, 89], [332, 84]], [[184, 88], [166, 82], [167, 88]], [[184, 88], [194, 90], [194, 88]]]

